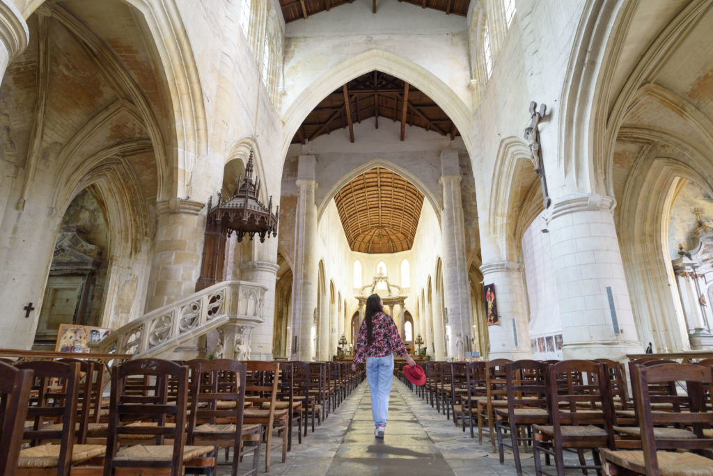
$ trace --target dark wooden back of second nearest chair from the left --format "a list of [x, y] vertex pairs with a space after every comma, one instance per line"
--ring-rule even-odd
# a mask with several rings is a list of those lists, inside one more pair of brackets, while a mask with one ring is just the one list
[[[31, 446], [39, 445], [43, 440], [59, 440], [57, 475], [68, 475], [76, 439], [79, 364], [31, 361], [17, 363], [16, 368], [33, 372], [26, 417], [32, 426], [23, 432], [22, 438], [31, 440]], [[46, 423], [61, 424], [61, 428], [43, 430]]]

